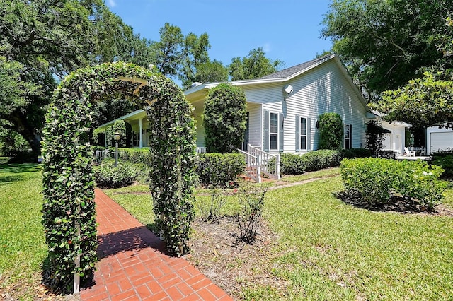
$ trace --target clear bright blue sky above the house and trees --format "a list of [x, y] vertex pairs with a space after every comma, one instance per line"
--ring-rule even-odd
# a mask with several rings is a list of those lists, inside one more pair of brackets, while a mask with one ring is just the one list
[[207, 33], [210, 59], [228, 65], [263, 47], [266, 57], [286, 67], [301, 64], [331, 48], [321, 36], [331, 0], [105, 0], [134, 33], [159, 40], [168, 22], [183, 34]]

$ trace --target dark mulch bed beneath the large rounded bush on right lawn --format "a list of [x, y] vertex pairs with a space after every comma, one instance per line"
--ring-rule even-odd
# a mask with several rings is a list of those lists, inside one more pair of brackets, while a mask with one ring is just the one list
[[369, 211], [392, 211], [398, 213], [427, 213], [423, 206], [417, 201], [411, 199], [405, 199], [399, 196], [392, 196], [388, 203], [383, 204], [370, 204], [363, 201], [360, 194], [347, 194], [345, 191], [334, 192], [333, 196], [340, 199], [348, 205], [354, 206], [355, 208], [367, 209]]

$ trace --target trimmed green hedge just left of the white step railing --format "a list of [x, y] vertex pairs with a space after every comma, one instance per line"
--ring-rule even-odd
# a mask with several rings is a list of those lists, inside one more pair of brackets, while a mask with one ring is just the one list
[[200, 153], [195, 165], [201, 184], [224, 187], [244, 171], [246, 161], [240, 153]]

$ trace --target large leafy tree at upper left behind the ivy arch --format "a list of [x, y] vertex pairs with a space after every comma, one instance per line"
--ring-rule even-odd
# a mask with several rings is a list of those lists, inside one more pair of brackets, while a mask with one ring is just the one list
[[126, 51], [126, 37], [134, 38], [130, 28], [101, 0], [0, 1], [2, 123], [40, 153], [40, 130], [57, 78], [117, 59]]

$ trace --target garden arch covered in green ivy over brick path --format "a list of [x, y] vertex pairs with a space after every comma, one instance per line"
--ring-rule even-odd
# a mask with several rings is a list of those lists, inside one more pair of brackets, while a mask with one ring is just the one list
[[[125, 97], [144, 105], [150, 124], [150, 190], [156, 225], [168, 252], [188, 251], [193, 220], [195, 125], [191, 107], [165, 76], [134, 64], [101, 64], [70, 73], [55, 90], [42, 133], [42, 180], [50, 272], [69, 288], [96, 263], [93, 152], [88, 142], [93, 103]], [[80, 266], [76, 264], [80, 259]]]

